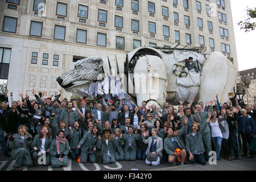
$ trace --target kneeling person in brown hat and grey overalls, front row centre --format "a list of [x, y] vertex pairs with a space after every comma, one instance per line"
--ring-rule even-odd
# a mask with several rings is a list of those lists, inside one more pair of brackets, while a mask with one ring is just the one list
[[101, 135], [98, 135], [97, 148], [101, 150], [103, 155], [103, 164], [115, 163], [114, 140], [111, 130], [105, 129]]

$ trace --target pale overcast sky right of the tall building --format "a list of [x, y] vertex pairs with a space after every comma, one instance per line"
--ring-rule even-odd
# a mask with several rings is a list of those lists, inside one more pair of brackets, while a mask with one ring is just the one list
[[254, 8], [256, 7], [256, 1], [230, 0], [230, 2], [237, 47], [238, 71], [256, 68], [256, 30], [245, 32], [243, 30], [240, 30], [240, 26], [238, 26], [237, 24], [241, 20], [245, 19], [245, 17], [247, 17], [246, 6]]

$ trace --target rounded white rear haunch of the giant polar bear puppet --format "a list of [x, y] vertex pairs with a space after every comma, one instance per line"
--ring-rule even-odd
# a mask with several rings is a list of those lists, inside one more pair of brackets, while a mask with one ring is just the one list
[[213, 52], [202, 69], [199, 101], [209, 102], [218, 94], [220, 103], [229, 101], [229, 93], [237, 84], [237, 70], [229, 59], [220, 52]]

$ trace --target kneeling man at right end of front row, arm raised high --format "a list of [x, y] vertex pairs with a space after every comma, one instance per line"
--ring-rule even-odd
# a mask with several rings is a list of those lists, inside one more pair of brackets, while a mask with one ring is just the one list
[[[200, 163], [205, 165], [206, 160], [204, 156], [204, 144], [202, 135], [204, 134], [204, 131], [210, 121], [210, 117], [212, 116], [212, 113], [208, 112], [208, 118], [207, 121], [204, 123], [204, 126], [200, 130], [200, 123], [192, 123], [191, 129], [192, 133], [188, 134], [186, 136], [186, 149], [189, 154], [189, 162], [191, 164], [195, 163], [196, 160]], [[200, 131], [199, 131], [200, 130]]]

